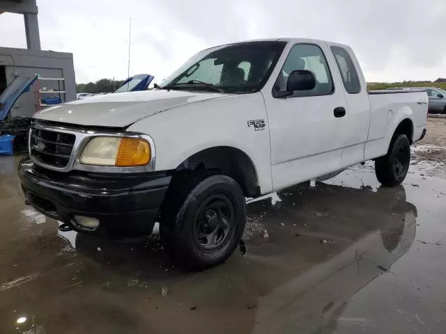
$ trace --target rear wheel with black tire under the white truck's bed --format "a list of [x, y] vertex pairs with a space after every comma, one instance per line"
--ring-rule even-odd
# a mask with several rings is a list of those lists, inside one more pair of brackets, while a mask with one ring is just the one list
[[383, 186], [397, 186], [406, 178], [410, 165], [410, 143], [405, 134], [394, 136], [389, 152], [375, 160], [375, 173]]

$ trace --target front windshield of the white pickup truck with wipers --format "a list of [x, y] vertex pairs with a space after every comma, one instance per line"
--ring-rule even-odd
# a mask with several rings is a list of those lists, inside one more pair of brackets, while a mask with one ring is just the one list
[[263, 87], [285, 42], [246, 42], [206, 49], [162, 81], [161, 88], [251, 93]]

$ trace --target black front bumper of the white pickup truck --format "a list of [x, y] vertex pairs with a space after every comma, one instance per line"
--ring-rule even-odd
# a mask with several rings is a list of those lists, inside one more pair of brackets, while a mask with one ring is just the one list
[[[171, 180], [165, 172], [58, 173], [33, 166], [29, 158], [20, 161], [18, 173], [26, 200], [38, 212], [107, 239], [150, 234]], [[98, 228], [82, 228], [75, 215], [98, 218]]]

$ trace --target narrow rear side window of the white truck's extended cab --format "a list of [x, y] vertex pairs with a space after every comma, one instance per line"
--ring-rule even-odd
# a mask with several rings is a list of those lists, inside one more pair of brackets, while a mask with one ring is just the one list
[[332, 47], [334, 58], [336, 59], [337, 67], [341, 72], [342, 82], [346, 88], [347, 93], [357, 94], [361, 91], [360, 79], [357, 76], [355, 65], [346, 51], [342, 47]]

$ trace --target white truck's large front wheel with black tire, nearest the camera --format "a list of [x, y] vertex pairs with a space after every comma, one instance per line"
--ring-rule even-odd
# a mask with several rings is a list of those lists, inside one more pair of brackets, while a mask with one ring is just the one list
[[245, 229], [242, 189], [226, 175], [198, 175], [180, 182], [183, 191], [171, 192], [163, 204], [164, 250], [185, 269], [203, 270], [224, 262]]

